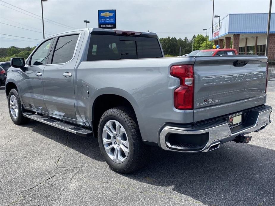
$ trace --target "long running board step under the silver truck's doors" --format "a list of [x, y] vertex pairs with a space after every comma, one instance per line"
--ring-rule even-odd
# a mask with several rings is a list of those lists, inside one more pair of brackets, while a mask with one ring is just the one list
[[36, 120], [36, 121], [39, 121], [39, 122], [42, 122], [42, 123], [45, 123], [45, 124], [48, 124], [48, 125], [51, 125], [51, 126], [54, 126], [54, 127], [57, 127], [59, 129], [63, 129], [65, 131], [71, 132], [73, 134], [76, 134], [76, 135], [79, 135], [82, 137], [92, 136], [92, 131], [89, 129], [84, 129], [84, 128], [81, 128], [78, 126], [71, 125], [69, 123], [64, 123], [64, 122], [61, 122], [61, 121], [58, 121], [55, 119], [48, 118], [46, 116], [32, 114], [29, 112], [24, 112], [23, 116], [33, 119], [33, 120]]

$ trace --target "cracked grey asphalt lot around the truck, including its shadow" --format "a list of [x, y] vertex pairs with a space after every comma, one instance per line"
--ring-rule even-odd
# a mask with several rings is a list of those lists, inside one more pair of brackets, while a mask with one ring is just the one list
[[[267, 104], [275, 108], [275, 81]], [[271, 119], [274, 118], [272, 112]], [[95, 138], [14, 125], [0, 88], [0, 205], [275, 205], [275, 121], [208, 153], [152, 148], [135, 174], [109, 169]]]

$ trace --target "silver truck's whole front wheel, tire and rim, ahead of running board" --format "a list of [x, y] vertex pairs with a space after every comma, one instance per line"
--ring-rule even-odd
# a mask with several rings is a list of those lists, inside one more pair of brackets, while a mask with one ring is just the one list
[[12, 119], [13, 123], [15, 124], [25, 124], [30, 121], [29, 118], [23, 116], [22, 113], [22, 104], [16, 89], [12, 89], [8, 96], [8, 105], [9, 105], [9, 112], [10, 118]]

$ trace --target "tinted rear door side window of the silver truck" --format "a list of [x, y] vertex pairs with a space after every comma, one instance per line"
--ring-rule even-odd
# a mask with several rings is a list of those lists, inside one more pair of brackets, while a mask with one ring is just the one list
[[61, 64], [70, 61], [76, 48], [78, 34], [58, 37], [54, 49], [52, 64]]

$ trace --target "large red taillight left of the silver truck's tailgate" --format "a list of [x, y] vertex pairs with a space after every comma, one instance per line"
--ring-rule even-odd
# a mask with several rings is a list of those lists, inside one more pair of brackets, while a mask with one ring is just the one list
[[194, 105], [193, 65], [171, 66], [170, 74], [180, 79], [180, 86], [174, 91], [174, 105], [179, 110], [191, 110]]

